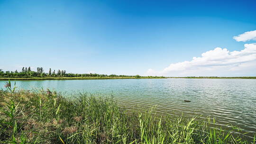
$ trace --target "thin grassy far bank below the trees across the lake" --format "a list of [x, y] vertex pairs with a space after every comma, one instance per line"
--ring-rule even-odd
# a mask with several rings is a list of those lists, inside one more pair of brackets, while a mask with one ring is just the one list
[[105, 79], [166, 79], [167, 77], [0, 77], [0, 80], [105, 80]]

